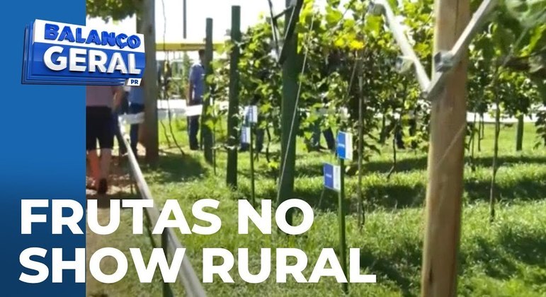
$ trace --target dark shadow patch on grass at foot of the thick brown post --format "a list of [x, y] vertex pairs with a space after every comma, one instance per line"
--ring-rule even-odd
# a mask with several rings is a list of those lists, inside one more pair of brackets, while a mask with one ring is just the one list
[[[146, 165], [140, 163], [143, 173], [150, 173], [149, 182], [168, 183], [181, 182], [183, 180], [195, 180], [203, 177], [207, 168], [203, 167], [201, 161], [186, 152], [186, 155], [179, 153], [164, 153], [159, 156], [159, 161], [155, 165]], [[148, 179], [147, 179], [148, 182]]]

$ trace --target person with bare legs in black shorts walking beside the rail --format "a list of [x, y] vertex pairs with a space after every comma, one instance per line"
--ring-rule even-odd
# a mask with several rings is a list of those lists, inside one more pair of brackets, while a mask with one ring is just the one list
[[[108, 192], [108, 174], [114, 144], [113, 109], [118, 107], [123, 89], [116, 86], [86, 87], [86, 151], [98, 194]], [[97, 141], [101, 150], [99, 159]]]

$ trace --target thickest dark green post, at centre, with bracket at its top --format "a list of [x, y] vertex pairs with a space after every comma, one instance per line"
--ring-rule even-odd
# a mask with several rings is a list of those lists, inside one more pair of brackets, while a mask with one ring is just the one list
[[[286, 0], [289, 7], [291, 0]], [[292, 8], [293, 9], [293, 8]], [[291, 11], [285, 14], [285, 23], [290, 23]], [[286, 60], [283, 63], [283, 100], [280, 107], [280, 178], [277, 203], [292, 199], [294, 195], [294, 170], [296, 163], [296, 134], [299, 117], [296, 114], [293, 127], [292, 117], [296, 106], [297, 76], [301, 71], [300, 56], [297, 54], [297, 34], [285, 40]], [[292, 132], [290, 132], [292, 130]], [[286, 221], [292, 223], [292, 209], [286, 212]]]

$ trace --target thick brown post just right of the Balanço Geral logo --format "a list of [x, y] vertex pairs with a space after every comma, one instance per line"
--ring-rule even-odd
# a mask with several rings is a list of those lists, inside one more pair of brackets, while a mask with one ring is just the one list
[[159, 136], [157, 129], [157, 61], [155, 33], [155, 0], [144, 1], [142, 10], [142, 34], [146, 51], [144, 69], [144, 146], [146, 161], [155, 163], [159, 158]]

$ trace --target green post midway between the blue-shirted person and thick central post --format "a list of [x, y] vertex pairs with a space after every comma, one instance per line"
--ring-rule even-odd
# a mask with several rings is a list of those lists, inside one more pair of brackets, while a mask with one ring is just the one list
[[241, 42], [241, 6], [232, 6], [232, 52], [229, 60], [229, 107], [227, 110], [227, 168], [228, 187], [237, 187], [237, 127], [239, 121], [239, 42]]

